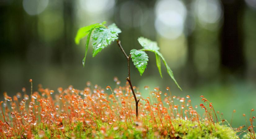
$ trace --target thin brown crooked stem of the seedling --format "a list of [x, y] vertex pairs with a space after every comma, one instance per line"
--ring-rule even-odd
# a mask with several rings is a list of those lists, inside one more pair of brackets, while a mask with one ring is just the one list
[[120, 40], [117, 40], [117, 44], [119, 46], [119, 48], [121, 49], [121, 51], [123, 52], [124, 56], [126, 57], [127, 59], [127, 65], [128, 65], [128, 77], [126, 78], [126, 80], [129, 82], [130, 84], [130, 87], [131, 87], [131, 90], [132, 90], [132, 94], [134, 96], [134, 100], [135, 100], [135, 104], [136, 104], [136, 119], [138, 119], [138, 103], [139, 103], [139, 99], [137, 99], [136, 95], [135, 95], [135, 92], [133, 90], [133, 87], [132, 87], [132, 82], [131, 82], [131, 76], [130, 76], [130, 58], [131, 58], [131, 55], [127, 55], [121, 45], [121, 41]]

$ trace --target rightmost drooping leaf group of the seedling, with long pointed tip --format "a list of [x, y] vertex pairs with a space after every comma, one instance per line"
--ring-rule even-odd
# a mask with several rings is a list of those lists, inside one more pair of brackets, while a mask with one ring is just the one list
[[175, 82], [175, 84], [178, 86], [178, 88], [180, 90], [181, 87], [179, 86], [179, 84], [177, 83], [176, 79], [174, 78], [174, 75], [173, 75], [173, 71], [170, 69], [170, 67], [167, 65], [163, 55], [158, 51], [159, 50], [159, 47], [157, 46], [157, 43], [155, 41], [151, 41], [147, 38], [144, 38], [144, 37], [139, 37], [138, 38], [138, 41], [139, 43], [141, 44], [141, 46], [143, 47], [143, 49], [141, 49], [141, 51], [150, 51], [150, 52], [153, 52], [155, 53], [155, 57], [156, 57], [156, 65], [158, 67], [158, 70], [159, 70], [159, 73], [160, 73], [160, 76], [162, 77], [162, 72], [161, 72], [161, 62], [160, 62], [160, 57], [161, 59], [163, 60], [164, 62], [164, 65], [167, 69], [167, 73], [169, 74], [169, 76], [173, 79], [173, 81]]

